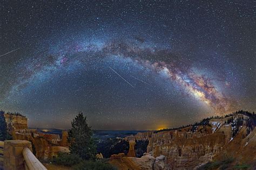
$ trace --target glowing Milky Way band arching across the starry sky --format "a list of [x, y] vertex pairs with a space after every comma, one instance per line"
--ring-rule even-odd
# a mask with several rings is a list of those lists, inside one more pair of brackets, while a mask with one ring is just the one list
[[170, 48], [136, 39], [52, 44], [51, 48], [38, 52], [17, 67], [22, 76], [13, 80], [16, 82], [12, 82], [11, 91], [18, 91], [33, 79], [50, 75], [58, 69], [70, 69], [71, 65], [83, 65], [89, 60], [97, 62], [107, 56], [131, 59], [153, 72], [165, 74], [184, 93], [205, 103], [217, 114], [233, 109], [234, 101], [218, 89], [214, 77], [195, 72], [190, 62], [173, 54]]

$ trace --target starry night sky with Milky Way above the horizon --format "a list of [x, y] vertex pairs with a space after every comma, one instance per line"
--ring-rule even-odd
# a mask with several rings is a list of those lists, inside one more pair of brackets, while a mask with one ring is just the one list
[[2, 1], [0, 109], [30, 127], [172, 128], [255, 111], [253, 1]]

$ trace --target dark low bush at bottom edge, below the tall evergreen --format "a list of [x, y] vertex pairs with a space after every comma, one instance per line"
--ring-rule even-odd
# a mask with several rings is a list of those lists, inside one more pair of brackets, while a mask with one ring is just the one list
[[83, 161], [72, 167], [76, 170], [115, 170], [114, 166], [104, 161]]

